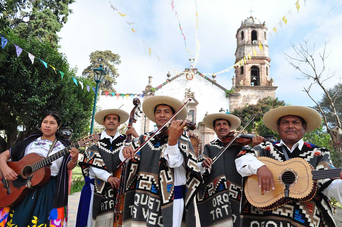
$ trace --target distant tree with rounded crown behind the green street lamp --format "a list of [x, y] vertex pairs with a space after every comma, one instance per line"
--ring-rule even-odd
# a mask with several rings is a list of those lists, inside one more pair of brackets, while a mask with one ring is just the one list
[[106, 50], [91, 52], [89, 57], [90, 65], [83, 70], [82, 76], [94, 80], [93, 69], [98, 68], [100, 64], [102, 64], [102, 68], [105, 70], [107, 75], [105, 76], [104, 81], [100, 83], [99, 89], [115, 92], [113, 85], [116, 84], [115, 78], [119, 76], [119, 73], [114, 66], [121, 63], [120, 55], [114, 54], [110, 50]]

